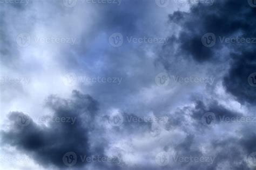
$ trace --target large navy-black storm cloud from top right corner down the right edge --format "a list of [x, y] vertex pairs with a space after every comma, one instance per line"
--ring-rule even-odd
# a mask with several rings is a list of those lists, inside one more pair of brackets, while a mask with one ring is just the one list
[[[173, 63], [181, 63], [180, 58], [192, 58], [199, 63], [212, 62], [216, 69], [220, 69], [217, 65], [226, 62], [226, 70], [229, 64], [230, 69], [223, 84], [228, 93], [241, 103], [255, 103], [255, 89], [247, 81], [247, 77], [256, 72], [255, 44], [221, 42], [224, 37], [255, 38], [255, 14], [255, 8], [247, 1], [230, 0], [215, 1], [211, 6], [199, 3], [188, 12], [176, 11], [169, 18], [171, 23], [180, 27], [180, 32], [163, 47], [160, 60], [167, 70], [172, 71], [175, 67]], [[201, 41], [203, 35], [209, 32], [216, 37], [213, 47], [206, 47]]]

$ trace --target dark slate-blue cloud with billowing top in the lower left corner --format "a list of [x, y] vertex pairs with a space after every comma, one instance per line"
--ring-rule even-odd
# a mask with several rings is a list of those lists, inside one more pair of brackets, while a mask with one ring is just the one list
[[98, 103], [91, 96], [83, 95], [79, 91], [73, 91], [71, 100], [52, 95], [46, 100], [46, 105], [54, 111], [53, 117], [76, 118], [75, 122], [50, 122], [46, 126], [36, 124], [27, 116], [29, 123], [21, 126], [19, 117], [25, 114], [11, 112], [9, 120], [12, 124], [10, 130], [1, 132], [2, 143], [15, 146], [17, 150], [28, 154], [44, 167], [65, 168], [62, 158], [67, 152], [77, 154], [77, 163], [74, 167], [86, 163], [79, 158], [80, 155], [104, 155], [107, 143], [102, 140], [102, 145], [91, 147], [89, 139], [90, 135], [96, 135], [93, 134], [93, 130], [98, 111]]

